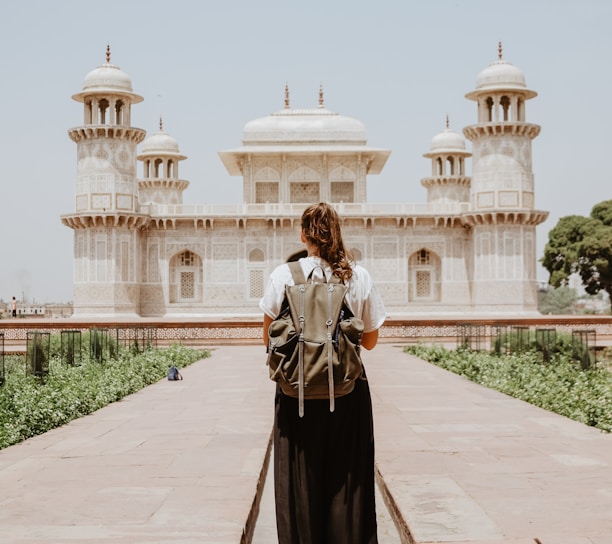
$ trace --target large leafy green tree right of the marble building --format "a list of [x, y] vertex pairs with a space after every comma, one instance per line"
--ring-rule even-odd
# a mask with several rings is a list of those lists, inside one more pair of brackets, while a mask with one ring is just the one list
[[590, 295], [605, 291], [612, 298], [612, 200], [593, 206], [590, 217], [568, 215], [548, 233], [542, 265], [553, 287], [580, 274]]

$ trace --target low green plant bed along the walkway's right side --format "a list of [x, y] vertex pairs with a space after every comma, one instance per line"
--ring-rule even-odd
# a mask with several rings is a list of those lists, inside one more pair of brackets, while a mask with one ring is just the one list
[[601, 367], [580, 370], [567, 353], [554, 353], [542, 364], [536, 351], [492, 355], [441, 346], [405, 351], [485, 387], [612, 432], [612, 373]]

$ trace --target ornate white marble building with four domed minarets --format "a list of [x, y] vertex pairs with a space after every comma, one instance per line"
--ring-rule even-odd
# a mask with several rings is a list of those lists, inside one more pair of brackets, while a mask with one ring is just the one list
[[[77, 144], [74, 230], [75, 316], [259, 315], [270, 271], [300, 251], [307, 204], [334, 203], [345, 241], [372, 273], [390, 316], [536, 313], [536, 226], [531, 141], [526, 121], [536, 96], [523, 73], [498, 59], [466, 98], [475, 123], [446, 128], [421, 180], [427, 202], [366, 202], [368, 176], [390, 154], [370, 147], [361, 122], [329, 111], [284, 108], [248, 122], [242, 146], [219, 153], [242, 176], [243, 203], [183, 204], [187, 157], [160, 130], [145, 140], [131, 126], [143, 98], [110, 62], [85, 76]], [[140, 150], [138, 150], [138, 145]], [[471, 157], [472, 175], [466, 162]], [[138, 162], [142, 175], [137, 174]]]

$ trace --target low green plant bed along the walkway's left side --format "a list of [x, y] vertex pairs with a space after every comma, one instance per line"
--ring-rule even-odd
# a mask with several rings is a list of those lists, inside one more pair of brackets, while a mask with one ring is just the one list
[[7, 380], [0, 388], [0, 448], [42, 434], [90, 414], [165, 378], [179, 368], [210, 356], [181, 345], [141, 354], [122, 352], [100, 364], [85, 358], [80, 366], [51, 361], [45, 381], [25, 372], [23, 357], [7, 357]]

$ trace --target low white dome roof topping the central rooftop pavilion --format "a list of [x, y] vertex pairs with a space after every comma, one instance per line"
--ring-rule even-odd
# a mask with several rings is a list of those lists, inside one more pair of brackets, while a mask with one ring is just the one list
[[324, 107], [285, 108], [244, 127], [244, 145], [308, 142], [365, 144], [365, 127], [357, 119]]

